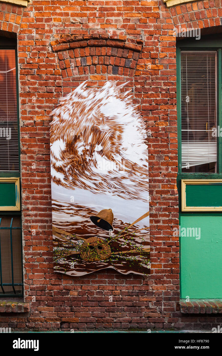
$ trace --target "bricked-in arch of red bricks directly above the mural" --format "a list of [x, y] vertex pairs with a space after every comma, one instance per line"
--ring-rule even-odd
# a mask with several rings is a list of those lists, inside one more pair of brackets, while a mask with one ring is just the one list
[[[130, 39], [131, 40], [131, 39]], [[101, 86], [107, 80], [129, 82], [124, 90], [134, 89], [135, 70], [143, 41], [130, 42], [126, 36], [66, 36], [51, 42], [57, 52], [63, 94], [80, 82]]]

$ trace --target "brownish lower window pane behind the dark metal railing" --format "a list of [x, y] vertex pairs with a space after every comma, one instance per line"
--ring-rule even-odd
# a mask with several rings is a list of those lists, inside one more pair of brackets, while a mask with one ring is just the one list
[[[10, 227], [12, 217], [4, 216], [1, 218], [0, 227]], [[12, 227], [21, 227], [20, 216], [14, 216]], [[12, 269], [14, 284], [22, 284], [22, 256], [21, 256], [21, 229], [12, 229], [12, 254], [11, 254], [11, 237], [10, 229], [0, 229], [0, 247], [1, 247], [1, 264], [0, 274], [3, 284], [12, 284]], [[11, 261], [12, 259], [12, 261]], [[7, 294], [22, 294], [22, 286], [4, 286], [3, 294], [0, 286], [0, 295], [3, 297]]]

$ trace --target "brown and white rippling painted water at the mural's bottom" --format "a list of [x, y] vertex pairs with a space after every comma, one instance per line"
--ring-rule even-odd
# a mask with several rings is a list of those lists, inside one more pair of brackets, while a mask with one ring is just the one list
[[[123, 223], [121, 220], [114, 219], [113, 233], [104, 231], [95, 226], [89, 216], [97, 214], [97, 211], [70, 204], [64, 206], [58, 201], [53, 201], [53, 213], [62, 214], [63, 221], [53, 221], [53, 226], [73, 234], [67, 240], [53, 236], [53, 246], [55, 249], [54, 268], [56, 272], [66, 273], [70, 276], [81, 276], [92, 273], [103, 268], [113, 268], [124, 274], [138, 273], [150, 274], [149, 258], [150, 253], [144, 251], [149, 248], [149, 228], [137, 231], [139, 226], [132, 226], [130, 231], [120, 234], [131, 223]], [[60, 214], [53, 214], [60, 216]], [[67, 221], [66, 217], [67, 216]], [[70, 217], [73, 221], [70, 221]], [[79, 221], [74, 221], [78, 219]], [[58, 220], [58, 218], [57, 218]], [[112, 256], [105, 261], [86, 262], [80, 258], [79, 246], [83, 239], [98, 236], [109, 243]], [[114, 239], [114, 240], [113, 240]], [[131, 252], [131, 250], [134, 250]], [[136, 250], [136, 251], [135, 251]]]

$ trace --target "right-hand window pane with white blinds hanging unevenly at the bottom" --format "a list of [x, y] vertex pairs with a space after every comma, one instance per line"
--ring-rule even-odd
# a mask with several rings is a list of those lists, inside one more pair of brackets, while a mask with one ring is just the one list
[[181, 51], [182, 172], [216, 172], [216, 72], [216, 51]]

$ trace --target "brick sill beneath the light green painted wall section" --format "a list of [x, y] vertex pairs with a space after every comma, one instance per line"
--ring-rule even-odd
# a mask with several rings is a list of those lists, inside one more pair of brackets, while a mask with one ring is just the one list
[[180, 299], [180, 311], [183, 314], [222, 313], [222, 299]]

